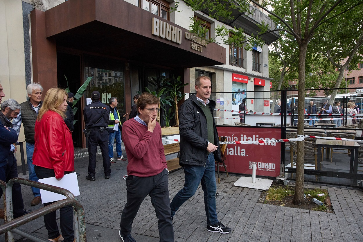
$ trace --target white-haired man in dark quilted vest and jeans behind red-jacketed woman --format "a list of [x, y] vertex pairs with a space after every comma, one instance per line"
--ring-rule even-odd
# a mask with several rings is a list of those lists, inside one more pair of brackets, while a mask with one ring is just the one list
[[[13, 119], [13, 128], [19, 136], [21, 123], [24, 125], [25, 133], [25, 146], [26, 146], [26, 162], [28, 163], [29, 180], [38, 181], [38, 177], [34, 172], [33, 165], [33, 152], [34, 152], [34, 127], [37, 119], [39, 109], [41, 108], [43, 88], [39, 83], [30, 83], [26, 87], [26, 93], [28, 94], [27, 101], [20, 104], [20, 113]], [[34, 199], [30, 203], [32, 206], [36, 206], [42, 201], [40, 197], [40, 189], [32, 187]]]

